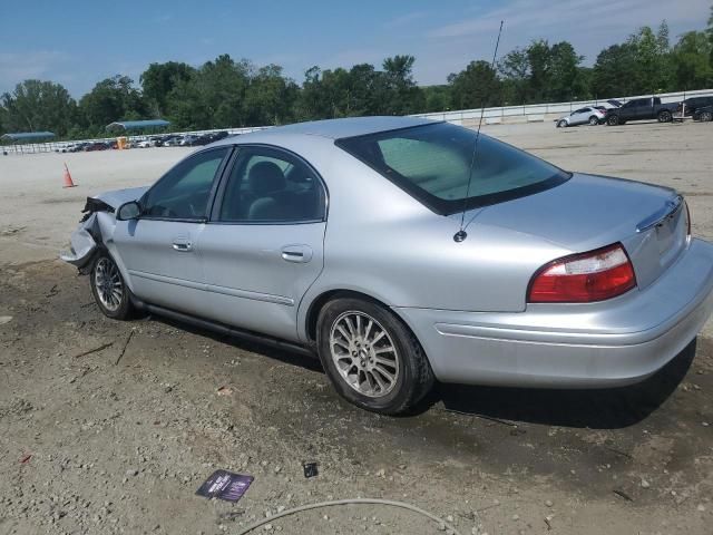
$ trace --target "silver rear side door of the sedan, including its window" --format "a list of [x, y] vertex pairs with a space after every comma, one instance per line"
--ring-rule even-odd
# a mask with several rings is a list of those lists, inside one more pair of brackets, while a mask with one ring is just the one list
[[282, 149], [246, 146], [233, 159], [201, 236], [211, 318], [297, 340], [297, 307], [323, 268], [326, 189]]

